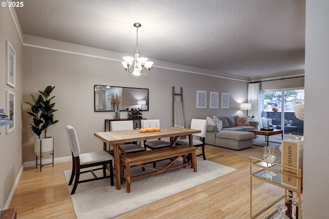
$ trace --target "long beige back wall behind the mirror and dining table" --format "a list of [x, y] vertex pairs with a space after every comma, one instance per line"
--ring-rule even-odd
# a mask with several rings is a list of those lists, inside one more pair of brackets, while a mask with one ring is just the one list
[[[49, 41], [53, 47], [62, 43]], [[76, 50], [76, 48], [71, 48]], [[87, 52], [87, 51], [86, 51]], [[90, 48], [89, 53], [94, 49]], [[102, 51], [96, 51], [102, 52]], [[48, 129], [53, 136], [54, 156], [70, 156], [65, 126], [76, 128], [82, 152], [101, 148], [101, 141], [94, 132], [104, 130], [104, 119], [113, 118], [113, 112], [94, 112], [94, 85], [148, 88], [150, 93], [149, 111], [143, 117], [159, 118], [162, 126], [172, 126], [172, 87], [179, 92], [183, 88], [185, 127], [192, 118], [205, 118], [207, 115], [241, 114], [239, 104], [246, 102], [247, 82], [233, 81], [201, 74], [175, 71], [155, 67], [148, 76], [129, 76], [118, 61], [70, 54], [49, 49], [24, 47], [24, 94], [23, 102], [31, 102], [30, 94], [38, 95], [38, 90], [46, 86], [56, 86], [53, 99], [59, 111], [54, 116], [59, 123]], [[122, 54], [123, 55], [123, 54]], [[205, 90], [208, 95], [208, 109], [196, 109], [196, 90]], [[229, 92], [230, 109], [209, 109], [209, 91]], [[29, 106], [23, 103], [23, 110]], [[126, 112], [121, 112], [126, 117]], [[23, 113], [23, 161], [34, 161], [33, 139], [29, 123], [31, 117]]]

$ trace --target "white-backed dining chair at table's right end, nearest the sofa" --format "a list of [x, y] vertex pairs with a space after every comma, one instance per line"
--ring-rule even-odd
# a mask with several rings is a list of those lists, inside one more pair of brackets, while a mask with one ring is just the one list
[[[200, 120], [198, 118], [192, 118], [191, 129], [201, 130], [200, 133], [192, 134], [193, 135], [193, 146], [202, 147], [202, 153], [197, 154], [196, 156], [203, 155], [204, 160], [206, 160], [205, 154], [205, 137], [207, 131], [207, 120]], [[181, 139], [176, 141], [176, 145], [189, 145], [189, 139]]]

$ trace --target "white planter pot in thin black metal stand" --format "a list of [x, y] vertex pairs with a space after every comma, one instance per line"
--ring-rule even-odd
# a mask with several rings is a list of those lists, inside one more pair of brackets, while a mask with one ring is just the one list
[[[41, 168], [45, 165], [52, 164], [53, 167], [53, 137], [34, 138], [34, 153], [35, 153], [35, 169], [38, 169], [38, 166], [40, 166], [40, 172], [41, 172]], [[52, 155], [52, 163], [42, 164], [42, 157], [48, 154]], [[40, 157], [40, 164], [38, 164], [38, 155]]]

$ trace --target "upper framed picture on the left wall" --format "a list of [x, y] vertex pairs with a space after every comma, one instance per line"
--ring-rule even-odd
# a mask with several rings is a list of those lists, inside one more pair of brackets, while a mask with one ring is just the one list
[[6, 84], [15, 87], [16, 53], [9, 41], [6, 41]]

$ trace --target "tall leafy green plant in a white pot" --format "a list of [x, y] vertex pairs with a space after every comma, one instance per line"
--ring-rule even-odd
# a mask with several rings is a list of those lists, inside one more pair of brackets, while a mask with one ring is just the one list
[[[47, 136], [48, 127], [58, 123], [58, 120], [53, 120], [53, 113], [57, 111], [53, 109], [55, 103], [50, 103], [50, 93], [53, 91], [55, 86], [47, 86], [44, 91], [39, 91], [38, 99], [31, 94], [33, 104], [25, 102], [31, 106], [32, 112], [27, 112], [33, 117], [33, 124], [31, 125], [32, 131], [38, 135], [38, 138], [34, 138], [34, 153], [36, 156], [40, 156], [40, 159], [44, 155], [51, 154], [53, 151], [53, 137]], [[44, 136], [41, 136], [44, 133]], [[41, 164], [41, 163], [40, 163]], [[40, 168], [41, 171], [41, 168]]]

